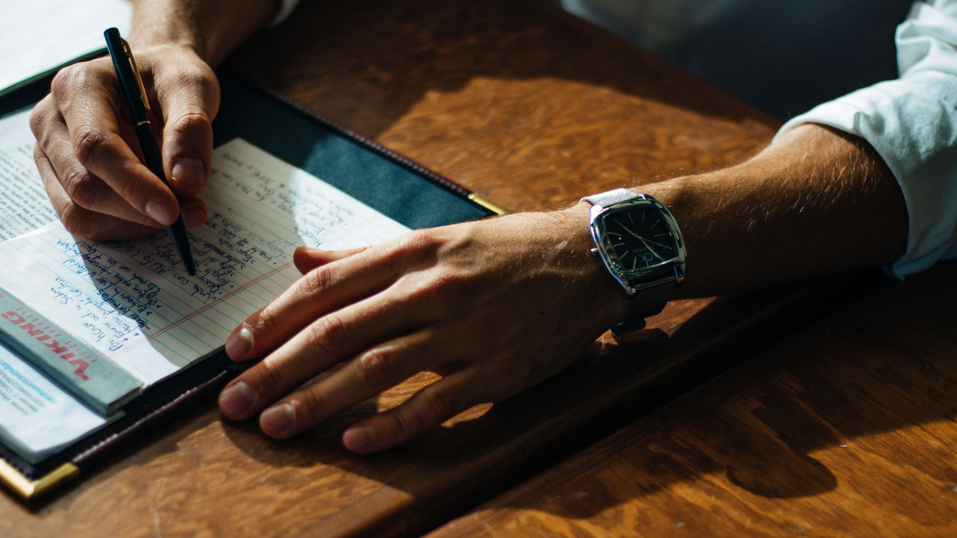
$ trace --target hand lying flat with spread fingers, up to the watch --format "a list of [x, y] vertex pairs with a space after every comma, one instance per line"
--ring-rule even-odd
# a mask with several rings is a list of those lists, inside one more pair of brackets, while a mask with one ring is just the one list
[[535, 385], [625, 316], [624, 293], [590, 256], [587, 230], [581, 205], [359, 251], [300, 248], [305, 276], [227, 341], [236, 361], [266, 357], [222, 393], [220, 407], [234, 419], [262, 412], [262, 430], [284, 438], [419, 371], [443, 376], [345, 432], [349, 450], [368, 453]]

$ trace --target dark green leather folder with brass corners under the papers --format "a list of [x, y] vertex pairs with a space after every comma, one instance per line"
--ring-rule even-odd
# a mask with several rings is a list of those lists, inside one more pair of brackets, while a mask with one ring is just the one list
[[[42, 99], [53, 74], [0, 97], [0, 117]], [[221, 105], [212, 123], [214, 146], [237, 137], [323, 181], [412, 229], [506, 213], [454, 182], [323, 119], [254, 83], [219, 74]], [[224, 352], [181, 370], [127, 403], [122, 418], [31, 463], [0, 444], [0, 481], [23, 499], [109, 460], [123, 447], [209, 402], [248, 364]]]

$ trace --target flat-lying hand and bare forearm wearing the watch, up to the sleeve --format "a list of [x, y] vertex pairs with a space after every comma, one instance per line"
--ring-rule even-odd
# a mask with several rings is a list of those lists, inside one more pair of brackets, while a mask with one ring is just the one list
[[[817, 125], [737, 167], [640, 191], [667, 206], [684, 235], [676, 299], [890, 263], [906, 245], [901, 189], [879, 155]], [[443, 376], [345, 432], [346, 448], [368, 453], [506, 398], [564, 369], [625, 317], [624, 292], [591, 246], [580, 204], [359, 251], [300, 249], [305, 276], [227, 341], [236, 361], [265, 358], [222, 392], [220, 408], [234, 419], [261, 413], [266, 434], [291, 437], [419, 371]]]

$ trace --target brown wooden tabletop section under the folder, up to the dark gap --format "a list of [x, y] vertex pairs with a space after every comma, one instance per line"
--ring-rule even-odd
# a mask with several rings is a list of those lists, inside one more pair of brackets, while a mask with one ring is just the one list
[[[737, 163], [777, 127], [546, 0], [323, 4], [229, 64], [512, 210]], [[432, 378], [288, 441], [210, 402], [40, 504], [0, 496], [0, 536], [421, 534], [647, 413], [742, 340], [788, 332], [821, 285], [672, 303], [539, 387], [370, 457], [342, 448], [345, 426]]]

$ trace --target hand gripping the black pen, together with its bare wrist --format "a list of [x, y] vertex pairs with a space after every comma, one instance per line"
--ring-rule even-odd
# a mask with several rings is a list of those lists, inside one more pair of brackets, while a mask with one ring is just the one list
[[92, 239], [145, 237], [180, 212], [189, 227], [207, 208], [212, 118], [219, 83], [212, 72], [272, 17], [276, 0], [133, 0], [128, 37], [143, 76], [163, 152], [167, 188], [142, 153], [109, 56], [63, 69], [33, 109], [33, 157], [67, 230]]

